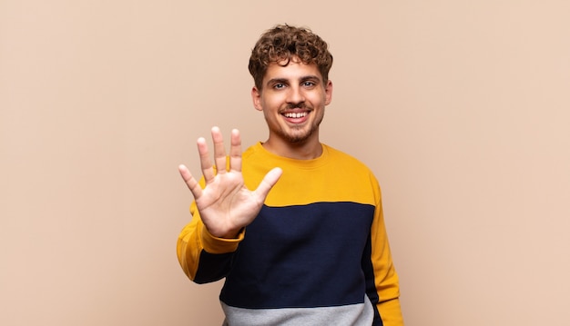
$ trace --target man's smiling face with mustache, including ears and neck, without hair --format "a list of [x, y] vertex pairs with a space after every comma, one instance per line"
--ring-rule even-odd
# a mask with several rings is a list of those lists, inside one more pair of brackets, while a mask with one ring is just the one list
[[323, 83], [316, 64], [303, 64], [295, 57], [286, 66], [271, 63], [262, 86], [261, 90], [254, 87], [251, 96], [268, 123], [268, 142], [319, 142], [319, 124], [331, 103], [332, 83]]

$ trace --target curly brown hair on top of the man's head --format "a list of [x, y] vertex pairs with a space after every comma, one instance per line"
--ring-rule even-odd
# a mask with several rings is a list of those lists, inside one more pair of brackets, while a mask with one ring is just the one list
[[261, 35], [251, 50], [249, 74], [253, 76], [255, 86], [261, 90], [270, 63], [286, 66], [293, 57], [298, 57], [303, 64], [317, 64], [323, 82], [328, 82], [332, 66], [329, 45], [309, 28], [276, 25]]

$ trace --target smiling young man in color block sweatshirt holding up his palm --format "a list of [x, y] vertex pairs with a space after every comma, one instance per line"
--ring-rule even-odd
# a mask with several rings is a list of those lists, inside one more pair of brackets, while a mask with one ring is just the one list
[[214, 160], [198, 139], [200, 183], [178, 260], [197, 283], [226, 278], [225, 325], [403, 325], [380, 187], [351, 156], [320, 143], [331, 103], [332, 55], [308, 29], [278, 25], [249, 59], [266, 142], [229, 155], [212, 128]]

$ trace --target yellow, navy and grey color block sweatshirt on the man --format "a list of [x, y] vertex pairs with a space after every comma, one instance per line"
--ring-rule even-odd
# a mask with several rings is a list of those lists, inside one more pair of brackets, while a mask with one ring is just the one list
[[225, 325], [403, 325], [379, 184], [350, 155], [322, 149], [314, 160], [261, 143], [243, 153], [250, 190], [270, 169], [283, 173], [238, 239], [209, 234], [190, 206], [178, 261], [194, 282], [225, 278]]

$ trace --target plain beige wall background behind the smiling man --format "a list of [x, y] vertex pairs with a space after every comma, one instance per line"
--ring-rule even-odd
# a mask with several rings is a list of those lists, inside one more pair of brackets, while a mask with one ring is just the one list
[[382, 183], [407, 325], [568, 325], [570, 2], [0, 0], [0, 324], [219, 325], [175, 243], [249, 50], [330, 44], [322, 141]]

